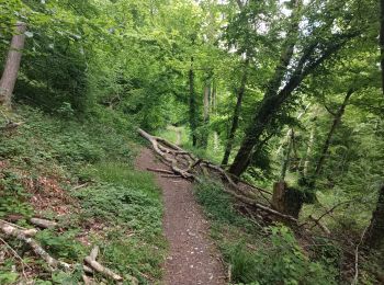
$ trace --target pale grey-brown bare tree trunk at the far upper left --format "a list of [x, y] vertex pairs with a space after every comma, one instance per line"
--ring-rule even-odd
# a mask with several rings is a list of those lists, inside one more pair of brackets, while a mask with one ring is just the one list
[[0, 104], [7, 107], [11, 106], [12, 93], [18, 79], [22, 49], [25, 43], [26, 24], [16, 23], [15, 34], [12, 37], [11, 46], [8, 52], [4, 71], [0, 80]]

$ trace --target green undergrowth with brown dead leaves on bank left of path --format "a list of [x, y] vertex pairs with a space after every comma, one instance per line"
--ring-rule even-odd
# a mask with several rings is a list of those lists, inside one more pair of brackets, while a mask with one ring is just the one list
[[[25, 123], [1, 134], [0, 218], [24, 227], [36, 215], [55, 219], [57, 228], [36, 236], [54, 258], [81, 264], [98, 244], [98, 261], [122, 276], [140, 284], [159, 281], [166, 251], [162, 205], [153, 176], [133, 170], [132, 124], [108, 114], [53, 117], [26, 106], [9, 118]], [[25, 281], [23, 266], [35, 284], [81, 282], [81, 266], [49, 274], [22, 242], [7, 241], [23, 263], [0, 242], [0, 284]], [[95, 282], [110, 284], [100, 275]]]

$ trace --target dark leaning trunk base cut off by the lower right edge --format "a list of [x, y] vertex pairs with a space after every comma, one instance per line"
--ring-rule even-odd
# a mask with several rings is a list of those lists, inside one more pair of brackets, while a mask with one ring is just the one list
[[372, 214], [371, 224], [365, 233], [365, 244], [380, 249], [384, 243], [384, 185], [380, 189], [376, 209]]

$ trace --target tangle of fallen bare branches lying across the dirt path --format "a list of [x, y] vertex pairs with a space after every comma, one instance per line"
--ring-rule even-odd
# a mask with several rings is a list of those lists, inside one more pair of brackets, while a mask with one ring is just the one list
[[[249, 183], [244, 183], [244, 184], [247, 184], [247, 186], [251, 191], [245, 190], [240, 187], [237, 183], [235, 183], [233, 178], [221, 167], [213, 164], [208, 161], [205, 161], [203, 159], [197, 159], [192, 153], [183, 150], [179, 146], [176, 146], [167, 141], [163, 138], [151, 136], [140, 128], [138, 128], [137, 132], [140, 134], [140, 136], [149, 140], [155, 152], [172, 170], [171, 174], [180, 175], [184, 179], [197, 181], [197, 182], [201, 181], [199, 178], [199, 174], [201, 173], [207, 176], [218, 175], [219, 178], [222, 178], [222, 180], [225, 183], [224, 191], [230, 194], [231, 196], [234, 196], [235, 198], [239, 200], [240, 202], [247, 205], [250, 205], [255, 208], [266, 212], [270, 215], [278, 216], [290, 223], [297, 224], [296, 218], [290, 215], [282, 214], [264, 204], [257, 202], [258, 195], [256, 193], [260, 193], [260, 196], [262, 196], [266, 201], [268, 201], [268, 198], [263, 195], [263, 193], [270, 194], [268, 191], [255, 187]], [[166, 173], [168, 173], [168, 171]], [[239, 180], [237, 179], [236, 181], [239, 181]]]

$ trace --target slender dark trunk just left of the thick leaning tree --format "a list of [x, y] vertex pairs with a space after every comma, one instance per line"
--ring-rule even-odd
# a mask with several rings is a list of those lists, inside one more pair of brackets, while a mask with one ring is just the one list
[[246, 92], [248, 66], [249, 66], [249, 59], [247, 58], [245, 61], [245, 65], [244, 65], [244, 72], [242, 72], [242, 78], [241, 78], [241, 82], [240, 82], [240, 88], [237, 92], [237, 102], [236, 102], [236, 106], [235, 106], [235, 111], [234, 111], [234, 116], [231, 119], [230, 130], [228, 134], [228, 140], [227, 140], [227, 144], [225, 147], [225, 152], [224, 152], [224, 157], [223, 157], [223, 161], [222, 161], [223, 166], [226, 166], [228, 163], [230, 151], [231, 151], [231, 148], [234, 146], [235, 134], [236, 134], [236, 130], [239, 126], [242, 98], [244, 98], [244, 94]]

